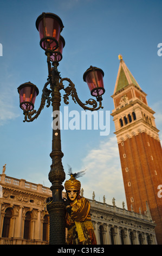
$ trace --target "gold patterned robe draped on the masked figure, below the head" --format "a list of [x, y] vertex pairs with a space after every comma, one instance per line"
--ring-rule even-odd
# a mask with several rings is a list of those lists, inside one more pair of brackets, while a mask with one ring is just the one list
[[96, 245], [93, 224], [90, 218], [89, 201], [78, 196], [72, 206], [71, 214], [66, 214], [67, 244], [68, 245]]

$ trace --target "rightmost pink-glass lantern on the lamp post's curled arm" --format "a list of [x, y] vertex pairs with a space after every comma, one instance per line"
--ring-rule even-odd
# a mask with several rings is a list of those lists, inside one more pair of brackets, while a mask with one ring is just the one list
[[90, 66], [83, 75], [83, 81], [87, 82], [92, 96], [100, 97], [105, 93], [103, 76], [102, 69], [96, 68], [95, 66]]

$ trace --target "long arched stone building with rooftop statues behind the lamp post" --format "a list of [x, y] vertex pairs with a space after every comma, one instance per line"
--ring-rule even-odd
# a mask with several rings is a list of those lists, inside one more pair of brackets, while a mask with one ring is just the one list
[[[51, 197], [48, 187], [23, 179], [0, 175], [0, 244], [46, 245], [49, 242], [49, 215], [46, 198]], [[133, 209], [90, 202], [90, 214], [96, 240], [101, 245], [157, 244], [155, 224], [148, 205], [144, 215]]]

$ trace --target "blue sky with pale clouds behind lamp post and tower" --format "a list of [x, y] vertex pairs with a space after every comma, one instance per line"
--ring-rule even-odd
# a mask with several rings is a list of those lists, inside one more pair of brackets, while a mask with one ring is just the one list
[[[50, 186], [48, 173], [51, 159], [51, 107], [44, 107], [41, 115], [31, 123], [23, 123], [17, 87], [24, 82], [36, 84], [40, 90], [35, 102], [38, 109], [41, 92], [47, 81], [46, 56], [40, 47], [35, 21], [42, 12], [60, 16], [66, 41], [59, 65], [61, 77], [70, 78], [77, 94], [85, 102], [90, 95], [83, 73], [90, 65], [105, 73], [106, 93], [104, 111], [114, 109], [114, 92], [119, 68], [118, 54], [123, 59], [141, 89], [147, 93], [148, 105], [156, 112], [155, 123], [162, 130], [161, 91], [162, 2], [155, 0], [33, 0], [0, 1], [0, 167], [7, 163], [6, 174], [17, 179]], [[162, 52], [162, 51], [161, 51]], [[63, 94], [62, 94], [63, 96]], [[64, 103], [62, 101], [61, 111]], [[67, 106], [67, 105], [66, 105]], [[69, 99], [68, 111], [83, 110]], [[122, 207], [125, 201], [118, 145], [114, 135], [113, 118], [110, 133], [100, 136], [99, 130], [62, 130], [64, 153], [62, 162], [68, 172], [86, 169], [80, 180], [84, 196]], [[69, 176], [67, 175], [69, 179]]]

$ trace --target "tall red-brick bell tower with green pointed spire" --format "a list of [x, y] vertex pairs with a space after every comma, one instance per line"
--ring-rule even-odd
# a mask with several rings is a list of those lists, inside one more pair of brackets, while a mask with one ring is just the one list
[[[158, 186], [162, 184], [162, 151], [155, 126], [155, 113], [127, 68], [122, 56], [114, 94], [115, 135], [118, 142], [127, 208], [147, 214], [146, 202], [157, 227], [157, 242], [162, 244], [162, 198]], [[162, 186], [162, 185], [161, 185]]]

